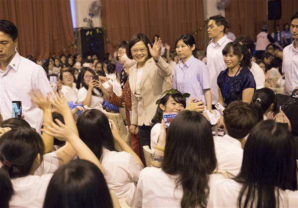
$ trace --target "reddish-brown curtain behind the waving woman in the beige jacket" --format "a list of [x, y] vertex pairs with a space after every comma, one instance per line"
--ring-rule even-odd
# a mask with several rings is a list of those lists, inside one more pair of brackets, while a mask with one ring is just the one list
[[[203, 0], [101, 0], [101, 20], [106, 28], [105, 48], [113, 52], [120, 40], [142, 32], [151, 40], [158, 34], [174, 48], [176, 38], [192, 33], [199, 49], [204, 49]], [[109, 43], [111, 42], [111, 43]]]

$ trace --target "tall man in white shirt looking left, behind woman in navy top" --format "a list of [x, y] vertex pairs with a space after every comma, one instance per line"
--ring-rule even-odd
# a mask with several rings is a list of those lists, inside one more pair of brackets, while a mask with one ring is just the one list
[[220, 72], [226, 69], [224, 64], [223, 49], [226, 44], [232, 42], [224, 35], [227, 26], [226, 19], [221, 15], [212, 16], [208, 22], [208, 37], [212, 40], [207, 47], [207, 68], [210, 74], [212, 104], [219, 100], [219, 87], [217, 78]]

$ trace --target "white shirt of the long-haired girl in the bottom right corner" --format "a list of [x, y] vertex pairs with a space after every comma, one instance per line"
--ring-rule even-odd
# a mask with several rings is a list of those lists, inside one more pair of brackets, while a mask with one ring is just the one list
[[[219, 179], [210, 189], [207, 208], [237, 208], [240, 190], [241, 184], [233, 179]], [[298, 208], [298, 191], [280, 189], [279, 193], [280, 208]]]

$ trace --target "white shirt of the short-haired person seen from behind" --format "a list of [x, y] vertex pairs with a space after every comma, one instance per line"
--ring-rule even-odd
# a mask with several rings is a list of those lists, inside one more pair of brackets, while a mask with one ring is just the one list
[[224, 135], [224, 137], [214, 137], [214, 145], [218, 169], [225, 170], [234, 176], [238, 175], [243, 157], [241, 142]]

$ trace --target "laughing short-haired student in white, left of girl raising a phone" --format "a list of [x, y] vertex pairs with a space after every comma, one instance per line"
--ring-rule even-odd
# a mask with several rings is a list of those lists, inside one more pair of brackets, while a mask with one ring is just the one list
[[62, 70], [60, 72], [60, 80], [62, 80], [61, 92], [64, 94], [68, 102], [77, 102], [78, 89], [74, 83], [74, 71], [72, 69]]

